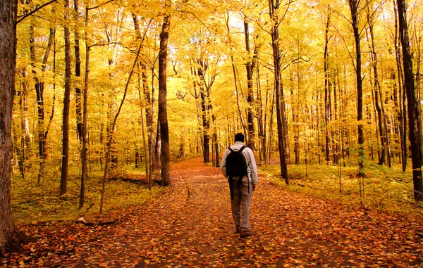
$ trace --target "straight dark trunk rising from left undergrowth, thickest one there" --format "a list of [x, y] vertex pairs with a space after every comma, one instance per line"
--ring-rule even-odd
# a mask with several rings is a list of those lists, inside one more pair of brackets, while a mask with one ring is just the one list
[[[65, 1], [65, 8], [69, 8], [69, 0]], [[69, 11], [65, 13], [65, 22], [69, 18]], [[67, 26], [65, 28], [65, 94], [63, 98], [63, 129], [62, 129], [62, 161], [60, 196], [68, 191], [68, 165], [69, 165], [69, 107], [71, 104], [71, 39]]]

